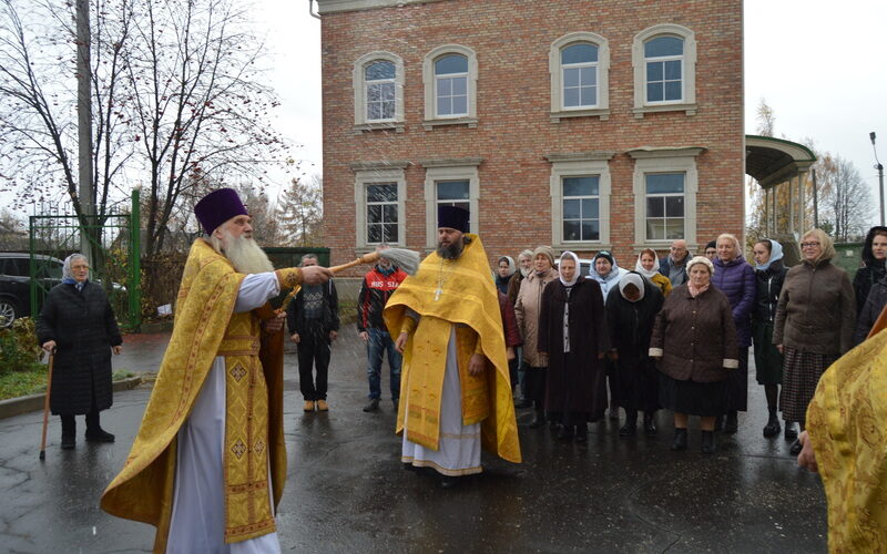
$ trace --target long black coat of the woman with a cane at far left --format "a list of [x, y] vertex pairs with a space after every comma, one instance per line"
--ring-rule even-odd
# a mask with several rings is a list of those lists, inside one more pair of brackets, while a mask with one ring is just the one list
[[102, 287], [90, 281], [80, 291], [69, 284], [53, 287], [37, 320], [37, 340], [55, 341], [52, 413], [111, 408], [111, 347], [123, 339]]

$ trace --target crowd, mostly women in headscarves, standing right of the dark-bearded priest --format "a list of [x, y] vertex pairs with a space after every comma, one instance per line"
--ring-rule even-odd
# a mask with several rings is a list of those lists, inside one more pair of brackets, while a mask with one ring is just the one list
[[798, 454], [819, 377], [887, 305], [887, 228], [869, 232], [853, 283], [833, 264], [823, 230], [802, 237], [801, 254], [788, 268], [783, 246], [764, 238], [750, 264], [740, 240], [723, 234], [699, 256], [684, 240], [662, 258], [643, 249], [632, 270], [609, 250], [585, 275], [574, 253], [548, 246], [520, 253], [517, 264], [499, 257], [496, 285], [521, 339], [516, 407], [533, 409], [530, 428], [548, 422], [557, 438], [580, 442], [608, 413], [624, 412], [619, 435], [633, 437], [643, 412], [643, 432], [654, 435], [654, 414], [667, 409], [673, 450], [687, 448], [687, 418], [696, 416], [700, 450], [714, 452], [715, 432], [736, 433], [748, 408], [752, 349], [767, 403], [763, 435], [784, 432]]

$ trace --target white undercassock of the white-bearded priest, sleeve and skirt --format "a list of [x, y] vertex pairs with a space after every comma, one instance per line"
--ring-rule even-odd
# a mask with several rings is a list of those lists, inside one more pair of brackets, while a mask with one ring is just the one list
[[[249, 311], [281, 294], [277, 276], [251, 274], [241, 283], [235, 312]], [[179, 430], [175, 492], [166, 552], [175, 554], [279, 553], [277, 533], [225, 544], [225, 358], [216, 357], [191, 414]], [[271, 475], [268, 475], [271, 483]], [[268, 494], [271, 495], [271, 486]], [[268, 499], [274, 505], [274, 501]], [[272, 507], [273, 511], [273, 507]]]

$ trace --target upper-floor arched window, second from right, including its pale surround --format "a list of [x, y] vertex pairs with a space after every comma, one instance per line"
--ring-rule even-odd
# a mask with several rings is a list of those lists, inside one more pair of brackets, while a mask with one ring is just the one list
[[610, 49], [592, 32], [565, 34], [551, 43], [551, 121], [561, 117], [610, 115]]

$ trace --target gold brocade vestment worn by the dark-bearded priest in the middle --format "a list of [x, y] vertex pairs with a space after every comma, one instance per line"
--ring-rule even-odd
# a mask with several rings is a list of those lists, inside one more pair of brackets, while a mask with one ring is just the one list
[[[440, 394], [450, 326], [456, 325], [457, 363], [462, 388], [462, 423], [481, 423], [483, 448], [511, 462], [521, 461], [511, 380], [506, 359], [499, 299], [490, 277], [487, 254], [477, 235], [440, 278], [440, 257], [428, 255], [416, 275], [391, 295], [384, 311], [392, 337], [400, 334], [407, 308], [421, 316], [404, 356], [397, 432], [410, 418], [408, 439], [437, 450]], [[487, 370], [468, 375], [471, 355], [482, 352]]]

